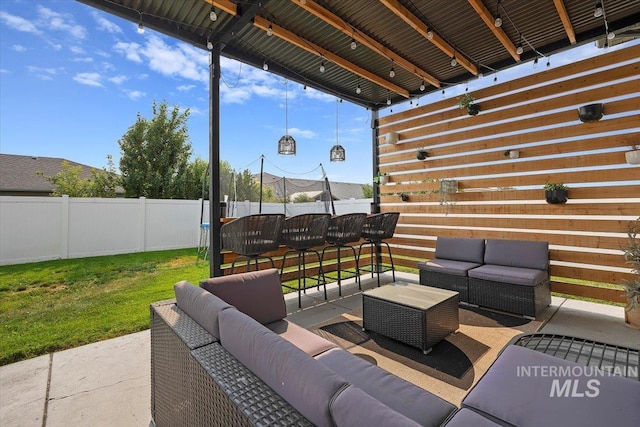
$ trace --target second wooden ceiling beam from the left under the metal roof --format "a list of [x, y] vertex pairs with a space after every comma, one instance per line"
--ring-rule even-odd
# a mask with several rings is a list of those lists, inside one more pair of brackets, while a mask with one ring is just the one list
[[400, 65], [402, 68], [406, 69], [410, 73], [415, 76], [421, 78], [425, 81], [425, 83], [429, 83], [432, 86], [440, 87], [440, 81], [432, 76], [427, 71], [421, 69], [417, 65], [411, 63], [409, 60], [401, 57], [394, 51], [387, 49], [382, 43], [377, 40], [369, 37], [368, 35], [354, 29], [348, 22], [344, 21], [339, 16], [331, 13], [327, 9], [318, 5], [316, 2], [312, 0], [307, 0], [304, 4], [299, 0], [292, 0], [293, 3], [297, 6], [300, 6], [316, 18], [326, 22], [331, 25], [335, 29], [342, 31], [344, 34], [352, 37], [355, 41], [360, 44], [368, 47], [369, 49], [377, 52], [378, 54], [388, 58], [389, 60], [393, 60], [394, 63]]

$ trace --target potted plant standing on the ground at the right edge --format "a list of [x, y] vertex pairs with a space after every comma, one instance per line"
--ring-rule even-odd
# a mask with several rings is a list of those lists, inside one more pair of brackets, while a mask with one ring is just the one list
[[626, 282], [624, 286], [624, 296], [627, 298], [627, 305], [624, 310], [625, 323], [635, 329], [640, 329], [640, 218], [629, 222], [627, 235], [629, 240], [622, 247], [624, 259], [631, 265], [631, 271], [636, 274], [634, 279]]

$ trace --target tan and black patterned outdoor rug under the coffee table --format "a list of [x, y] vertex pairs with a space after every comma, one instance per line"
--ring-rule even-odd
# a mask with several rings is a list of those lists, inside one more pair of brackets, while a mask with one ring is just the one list
[[361, 310], [343, 314], [310, 330], [459, 405], [509, 340], [521, 333], [535, 332], [545, 320], [545, 313], [536, 320], [479, 308], [460, 307], [459, 313], [458, 332], [436, 344], [426, 355], [418, 348], [380, 334], [363, 332]]

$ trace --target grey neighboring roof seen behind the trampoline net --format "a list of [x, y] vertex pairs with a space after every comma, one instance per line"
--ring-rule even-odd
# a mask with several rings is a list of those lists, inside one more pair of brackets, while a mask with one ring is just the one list
[[[260, 179], [260, 175], [254, 175], [256, 180]], [[286, 178], [286, 177], [285, 177]], [[324, 191], [324, 181], [313, 179], [297, 179], [286, 178], [282, 179], [281, 176], [272, 175], [270, 173], [263, 173], [262, 184], [273, 187], [276, 197], [282, 197], [285, 192], [287, 196], [292, 196], [296, 193], [308, 193], [312, 191]], [[362, 184], [356, 184], [351, 182], [334, 182], [329, 180], [331, 187], [331, 195], [334, 200], [349, 200], [349, 199], [361, 199], [362, 198]]]

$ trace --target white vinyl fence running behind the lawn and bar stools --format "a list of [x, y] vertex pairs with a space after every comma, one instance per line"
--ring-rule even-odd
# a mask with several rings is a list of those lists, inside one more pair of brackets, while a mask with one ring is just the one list
[[[336, 214], [370, 212], [371, 199], [335, 202]], [[0, 265], [83, 258], [198, 245], [199, 200], [0, 197]], [[231, 216], [259, 204], [230, 203]], [[263, 203], [263, 213], [325, 212], [323, 202]], [[209, 221], [209, 203], [203, 222]]]

